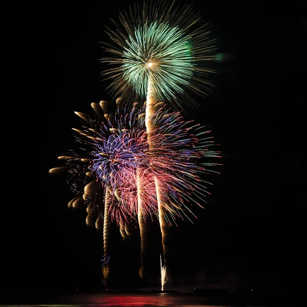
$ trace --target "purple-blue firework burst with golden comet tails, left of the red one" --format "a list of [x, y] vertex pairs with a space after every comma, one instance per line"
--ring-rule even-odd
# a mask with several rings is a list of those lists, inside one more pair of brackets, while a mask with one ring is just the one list
[[[86, 224], [96, 225], [103, 230], [104, 257], [109, 257], [109, 237], [111, 222], [115, 220], [120, 225], [120, 233], [126, 239], [130, 232], [127, 222], [139, 221], [141, 229], [141, 246], [144, 231], [144, 218], [141, 211], [134, 211], [129, 205], [122, 205], [122, 192], [118, 189], [120, 179], [129, 176], [139, 165], [139, 160], [147, 161], [147, 134], [143, 110], [131, 111], [118, 109], [112, 115], [109, 103], [101, 101], [92, 103], [97, 116], [75, 112], [84, 124], [82, 129], [74, 129], [80, 143], [77, 151], [71, 150], [67, 156], [59, 157], [65, 160], [67, 166], [53, 168], [50, 173], [68, 173], [67, 181], [78, 195], [69, 203], [69, 207], [81, 208], [87, 205]], [[120, 201], [120, 202], [119, 202]], [[95, 223], [96, 220], [96, 223]], [[143, 250], [143, 249], [142, 249]], [[103, 266], [104, 280], [108, 276], [108, 266]]]

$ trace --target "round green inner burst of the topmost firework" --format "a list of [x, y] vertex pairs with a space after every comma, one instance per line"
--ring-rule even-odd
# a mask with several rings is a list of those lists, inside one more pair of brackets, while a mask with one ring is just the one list
[[123, 78], [144, 97], [150, 77], [157, 100], [174, 98], [176, 92], [183, 92], [182, 85], [189, 84], [195, 65], [188, 38], [178, 27], [157, 21], [139, 26], [123, 50]]

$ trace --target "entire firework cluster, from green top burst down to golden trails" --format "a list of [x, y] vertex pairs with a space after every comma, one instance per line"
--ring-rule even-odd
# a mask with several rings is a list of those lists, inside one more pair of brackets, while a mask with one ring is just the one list
[[[204, 198], [210, 194], [203, 174], [214, 172], [212, 167], [220, 157], [211, 149], [211, 131], [171, 110], [173, 105], [181, 107], [179, 97], [185, 94], [185, 87], [203, 93], [210, 84], [205, 79], [208, 70], [196, 64], [209, 59], [206, 53], [214, 50], [209, 32], [204, 27], [190, 31], [199, 19], [190, 6], [179, 10], [173, 3], [162, 1], [120, 13], [124, 29], [108, 29], [117, 46], [109, 45], [106, 51], [113, 58], [103, 59], [116, 65], [104, 75], [110, 75], [112, 91], [120, 96], [117, 109], [100, 101], [92, 103], [94, 118], [75, 112], [82, 119], [81, 129], [74, 129], [78, 149], [59, 157], [65, 166], [50, 170], [52, 174], [67, 174], [67, 182], [76, 193], [68, 206], [81, 208], [85, 204], [86, 224], [103, 231], [105, 283], [112, 223], [118, 225], [124, 239], [130, 235], [128, 225], [138, 223], [141, 278], [145, 222], [160, 224], [164, 286], [165, 229], [177, 225], [177, 218], [191, 220], [191, 204], [203, 207]], [[132, 105], [131, 98], [139, 102]]]

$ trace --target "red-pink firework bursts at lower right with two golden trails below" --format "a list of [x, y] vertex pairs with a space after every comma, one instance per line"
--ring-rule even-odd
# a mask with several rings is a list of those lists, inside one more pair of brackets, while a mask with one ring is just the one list
[[[210, 150], [214, 145], [213, 137], [207, 136], [210, 130], [185, 122], [179, 112], [167, 113], [162, 109], [150, 118], [152, 127], [156, 127], [150, 136], [148, 130], [132, 130], [133, 137], [125, 142], [129, 144], [125, 150], [133, 148], [134, 158], [122, 164], [124, 169], [114, 179], [121, 193], [121, 210], [125, 208], [138, 216], [141, 259], [145, 256], [145, 220], [159, 220], [165, 254], [166, 228], [176, 224], [178, 217], [190, 220], [188, 213], [193, 215], [190, 204], [202, 207], [208, 182], [200, 173], [213, 171], [211, 168], [216, 164], [207, 160], [220, 157], [219, 152]], [[139, 274], [144, 276], [142, 262]]]

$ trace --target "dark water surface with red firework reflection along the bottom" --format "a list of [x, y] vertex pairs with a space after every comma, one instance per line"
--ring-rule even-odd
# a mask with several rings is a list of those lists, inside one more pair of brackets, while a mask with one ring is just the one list
[[[80, 293], [52, 297], [22, 297], [9, 299], [0, 306], [14, 307], [99, 307], [99, 306], [170, 306], [170, 307], [225, 307], [225, 306], [282, 306], [276, 298], [206, 297], [183, 293]], [[294, 306], [294, 305], [292, 305]]]

